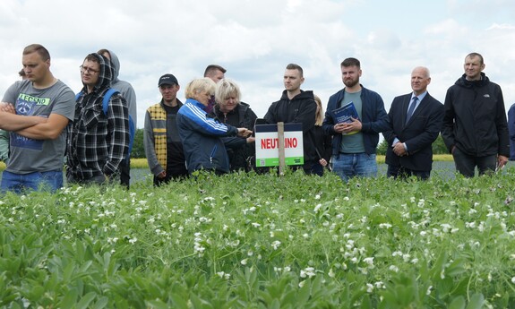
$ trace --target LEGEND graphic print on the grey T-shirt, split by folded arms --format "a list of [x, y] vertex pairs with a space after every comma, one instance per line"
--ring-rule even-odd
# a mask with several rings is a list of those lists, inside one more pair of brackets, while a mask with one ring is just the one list
[[[18, 99], [16, 99], [16, 115], [47, 117], [47, 115], [39, 115], [37, 112], [41, 107], [47, 107], [49, 104], [49, 98], [37, 98], [20, 93]], [[43, 142], [45, 142], [43, 140], [33, 140], [18, 133], [11, 133], [10, 138], [11, 146], [31, 150], [42, 150]]]

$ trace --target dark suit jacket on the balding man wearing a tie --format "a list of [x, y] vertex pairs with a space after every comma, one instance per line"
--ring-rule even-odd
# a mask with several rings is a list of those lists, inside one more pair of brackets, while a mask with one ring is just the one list
[[[390, 129], [382, 133], [389, 145], [386, 163], [414, 171], [430, 171], [433, 165], [431, 145], [442, 129], [443, 105], [427, 93], [406, 123], [410, 100], [411, 93], [396, 97], [391, 102], [388, 113]], [[408, 155], [399, 157], [393, 152], [391, 145], [395, 138], [406, 143]]]

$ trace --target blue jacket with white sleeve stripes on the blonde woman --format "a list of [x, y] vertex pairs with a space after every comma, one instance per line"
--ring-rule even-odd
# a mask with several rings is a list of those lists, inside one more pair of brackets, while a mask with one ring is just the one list
[[[186, 99], [177, 112], [177, 128], [185, 150], [186, 165], [191, 174], [195, 170], [229, 171], [226, 145], [236, 148], [245, 145], [246, 140], [227, 138], [236, 136], [235, 126], [222, 124], [204, 111], [202, 103]], [[226, 137], [226, 138], [223, 138]]]

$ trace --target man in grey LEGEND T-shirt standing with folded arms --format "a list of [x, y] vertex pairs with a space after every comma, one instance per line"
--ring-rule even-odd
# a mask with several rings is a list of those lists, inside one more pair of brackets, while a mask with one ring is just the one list
[[10, 159], [1, 191], [56, 191], [63, 186], [66, 125], [73, 91], [50, 72], [47, 48], [32, 44], [21, 58], [26, 79], [14, 82], [0, 103], [0, 128], [10, 131]]

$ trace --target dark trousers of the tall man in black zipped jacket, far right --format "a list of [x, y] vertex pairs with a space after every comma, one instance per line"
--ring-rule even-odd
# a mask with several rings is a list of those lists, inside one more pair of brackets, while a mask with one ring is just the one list
[[456, 170], [459, 171], [459, 174], [466, 177], [473, 177], [476, 173], [476, 167], [479, 175], [484, 175], [494, 173], [497, 166], [497, 155], [485, 157], [471, 156], [459, 150], [458, 147], [454, 147], [452, 157], [454, 158]]

